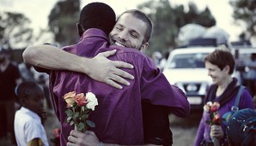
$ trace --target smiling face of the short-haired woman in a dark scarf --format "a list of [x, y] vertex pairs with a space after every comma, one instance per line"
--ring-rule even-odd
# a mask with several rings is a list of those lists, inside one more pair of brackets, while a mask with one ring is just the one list
[[229, 66], [226, 66], [221, 70], [216, 65], [210, 63], [210, 61], [205, 61], [205, 67], [208, 69], [208, 76], [211, 77], [213, 84], [222, 85], [230, 76]]

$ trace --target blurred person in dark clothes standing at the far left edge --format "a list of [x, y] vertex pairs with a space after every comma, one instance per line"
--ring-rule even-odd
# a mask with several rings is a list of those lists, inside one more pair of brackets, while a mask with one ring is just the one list
[[16, 63], [9, 60], [9, 50], [0, 48], [0, 137], [15, 144], [15, 86], [21, 83], [21, 75]]

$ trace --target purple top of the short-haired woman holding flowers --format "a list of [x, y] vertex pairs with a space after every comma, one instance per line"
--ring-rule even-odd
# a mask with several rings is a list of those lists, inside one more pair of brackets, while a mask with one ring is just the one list
[[[217, 113], [221, 115], [231, 111], [232, 106], [235, 105], [235, 97], [236, 95], [226, 104], [222, 105], [217, 110]], [[239, 109], [243, 108], [251, 108], [254, 109], [253, 107], [253, 97], [251, 96], [250, 92], [247, 89], [244, 89], [241, 93], [241, 99], [239, 103]], [[197, 136], [195, 138], [195, 143], [194, 146], [199, 146], [201, 142], [204, 140], [210, 141], [210, 125], [206, 123], [207, 120], [210, 120], [210, 114], [206, 111], [203, 113], [203, 117], [200, 121], [199, 127], [198, 127], [198, 132]], [[222, 130], [226, 131], [227, 126], [222, 123]]]

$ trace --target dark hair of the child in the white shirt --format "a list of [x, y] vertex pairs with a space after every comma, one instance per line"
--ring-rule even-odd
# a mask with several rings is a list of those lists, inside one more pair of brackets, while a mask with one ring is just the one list
[[33, 91], [39, 87], [40, 86], [36, 82], [22, 82], [16, 89], [16, 96], [18, 97], [18, 101], [21, 102], [21, 99], [25, 99], [27, 96], [31, 96]]

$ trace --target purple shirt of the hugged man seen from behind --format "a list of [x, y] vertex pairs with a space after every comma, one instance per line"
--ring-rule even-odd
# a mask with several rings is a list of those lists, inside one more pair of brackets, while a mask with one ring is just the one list
[[134, 66], [134, 69], [125, 69], [133, 74], [135, 79], [130, 80], [131, 85], [122, 90], [90, 79], [82, 73], [52, 71], [50, 88], [53, 90], [54, 109], [62, 125], [62, 145], [66, 145], [67, 137], [74, 129], [65, 123], [66, 102], [62, 97], [70, 91], [90, 91], [97, 97], [99, 105], [89, 115], [89, 120], [94, 121], [96, 127], [89, 130], [94, 131], [103, 143], [143, 143], [142, 100], [167, 106], [172, 113], [180, 117], [189, 114], [190, 106], [185, 94], [168, 83], [147, 55], [135, 49], [108, 46], [107, 36], [101, 30], [89, 29], [83, 33], [78, 44], [64, 48], [70, 53], [87, 57], [113, 49], [118, 52], [109, 59], [129, 62]]

